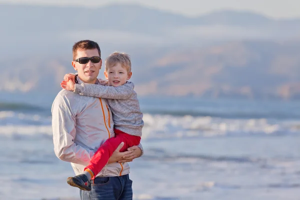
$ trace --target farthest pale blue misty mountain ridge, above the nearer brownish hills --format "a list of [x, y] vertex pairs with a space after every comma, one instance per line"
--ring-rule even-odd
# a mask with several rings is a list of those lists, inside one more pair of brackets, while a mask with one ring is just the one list
[[[134, 4], [60, 7], [0, 4], [2, 45], [38, 47], [95, 38], [126, 44], [205, 43], [228, 39], [286, 39], [300, 33], [300, 19], [276, 20], [261, 14], [221, 10], [197, 17]], [[14, 43], [21, 43], [17, 46]], [[52, 47], [53, 48], [53, 47]], [[1, 51], [0, 51], [1, 53]]]

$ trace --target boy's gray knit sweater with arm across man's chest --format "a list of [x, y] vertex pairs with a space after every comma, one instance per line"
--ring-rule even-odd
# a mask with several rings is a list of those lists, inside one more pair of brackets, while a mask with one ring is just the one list
[[74, 92], [84, 96], [106, 98], [112, 112], [114, 128], [127, 134], [141, 136], [142, 112], [137, 94], [133, 90], [134, 84], [127, 81], [123, 85], [114, 87], [109, 86], [106, 80], [98, 80], [100, 84], [75, 84]]

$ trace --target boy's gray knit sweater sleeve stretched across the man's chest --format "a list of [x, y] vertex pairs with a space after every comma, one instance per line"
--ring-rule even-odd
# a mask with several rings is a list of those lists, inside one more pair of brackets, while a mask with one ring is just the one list
[[75, 93], [84, 96], [94, 96], [100, 98], [111, 98], [111, 99], [127, 99], [133, 93], [133, 83], [125, 83], [123, 85], [104, 86], [100, 84], [75, 84]]

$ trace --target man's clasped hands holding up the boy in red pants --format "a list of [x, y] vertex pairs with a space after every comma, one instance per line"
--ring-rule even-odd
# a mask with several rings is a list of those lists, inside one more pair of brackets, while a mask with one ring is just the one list
[[109, 157], [108, 164], [113, 162], [130, 162], [134, 158], [141, 155], [141, 150], [138, 146], [132, 146], [127, 148], [127, 151], [120, 152], [119, 150], [123, 147], [124, 142], [121, 142], [118, 147], [113, 151], [112, 155]]

